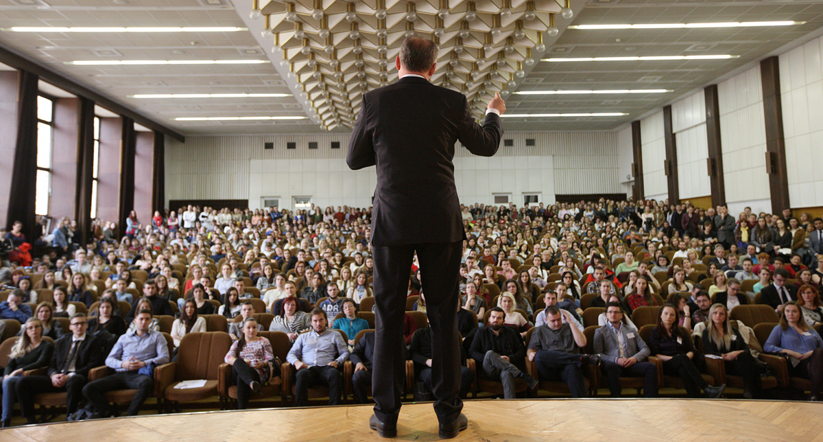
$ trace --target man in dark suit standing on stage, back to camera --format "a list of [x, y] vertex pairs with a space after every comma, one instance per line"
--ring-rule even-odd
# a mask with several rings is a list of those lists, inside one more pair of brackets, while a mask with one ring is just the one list
[[437, 46], [412, 36], [395, 60], [400, 80], [363, 96], [346, 163], [352, 170], [377, 165], [371, 244], [374, 254], [376, 336], [374, 416], [370, 427], [397, 434], [403, 383], [402, 314], [414, 254], [420, 262], [426, 309], [434, 333], [432, 384], [441, 437], [467, 426], [458, 398], [458, 277], [463, 219], [454, 184], [454, 143], [492, 156], [500, 145], [495, 95], [477, 124], [463, 94], [432, 85]]

